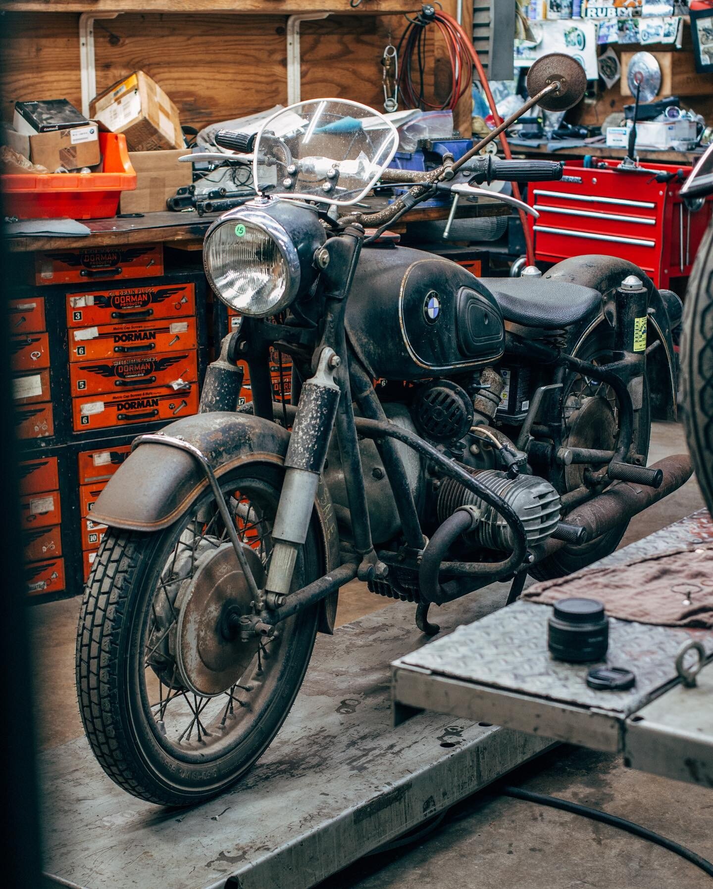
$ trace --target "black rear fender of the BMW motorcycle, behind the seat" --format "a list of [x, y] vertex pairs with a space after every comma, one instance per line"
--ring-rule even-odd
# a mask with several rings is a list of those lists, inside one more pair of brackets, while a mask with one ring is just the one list
[[574, 256], [569, 260], [558, 262], [546, 272], [544, 277], [554, 281], [568, 281], [571, 284], [584, 284], [598, 290], [604, 297], [604, 314], [598, 317], [594, 323], [588, 324], [587, 328], [580, 333], [572, 348], [572, 354], [576, 355], [577, 349], [585, 337], [592, 332], [597, 324], [609, 323], [606, 320], [607, 304], [612, 299], [613, 292], [628, 275], [636, 275], [640, 278], [648, 291], [647, 345], [651, 346], [655, 340], [660, 340], [660, 346], [655, 348], [646, 359], [652, 419], [676, 420], [677, 366], [671, 338], [671, 325], [668, 320], [666, 304], [651, 278], [633, 262], [596, 254]]

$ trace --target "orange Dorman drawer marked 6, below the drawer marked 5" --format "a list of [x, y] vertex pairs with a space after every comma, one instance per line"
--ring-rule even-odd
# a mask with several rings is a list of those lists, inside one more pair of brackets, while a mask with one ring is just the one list
[[129, 423], [151, 423], [155, 420], [178, 420], [198, 412], [198, 386], [180, 392], [161, 394], [161, 390], [112, 392], [105, 396], [72, 399], [72, 418], [76, 432], [124, 426]]

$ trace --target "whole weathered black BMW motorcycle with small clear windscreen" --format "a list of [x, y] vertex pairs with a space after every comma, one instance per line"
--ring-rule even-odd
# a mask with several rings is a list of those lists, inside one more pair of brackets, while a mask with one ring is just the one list
[[[546, 57], [522, 110], [569, 108], [585, 84]], [[190, 805], [246, 772], [348, 581], [414, 603], [433, 634], [429, 605], [498, 580], [512, 601], [527, 573], [604, 557], [690, 475], [683, 458], [646, 468], [677, 381], [673, 297], [639, 268], [585, 256], [479, 279], [384, 234], [439, 192], [561, 178], [562, 164], [481, 154], [491, 138], [430, 172], [387, 169], [392, 124], [336, 99], [219, 136], [253, 153], [258, 183], [204, 244], [242, 323], [199, 414], [137, 438], [101, 493], [109, 530], [78, 627], [85, 732], [135, 796]], [[407, 190], [364, 210], [379, 180]], [[273, 346], [292, 358], [291, 404], [273, 402]]]

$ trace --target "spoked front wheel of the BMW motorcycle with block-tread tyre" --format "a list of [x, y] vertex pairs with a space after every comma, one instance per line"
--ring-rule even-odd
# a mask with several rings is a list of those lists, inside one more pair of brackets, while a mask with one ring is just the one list
[[[270, 557], [282, 470], [221, 479], [254, 573]], [[212, 494], [156, 533], [109, 529], [85, 589], [77, 696], [104, 771], [135, 797], [194, 805], [246, 772], [278, 733], [304, 677], [318, 606], [242, 640], [247, 584]], [[323, 573], [312, 523], [294, 589]], [[260, 578], [256, 577], [258, 584]]]

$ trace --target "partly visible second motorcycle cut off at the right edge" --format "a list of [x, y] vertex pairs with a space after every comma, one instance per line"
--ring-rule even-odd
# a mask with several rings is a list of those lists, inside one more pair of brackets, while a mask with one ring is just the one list
[[[713, 195], [713, 144], [681, 188], [693, 210]], [[713, 226], [701, 241], [685, 294], [681, 395], [696, 478], [713, 510]]]

